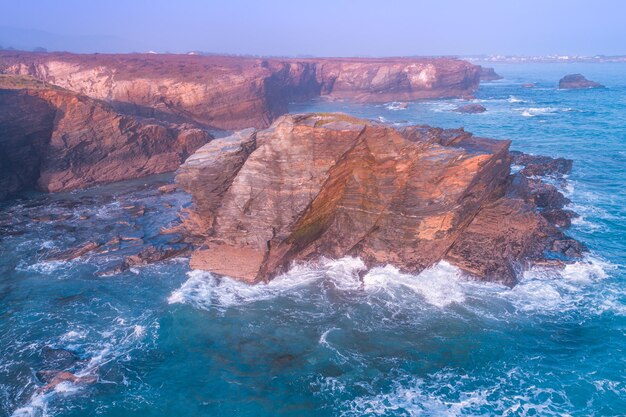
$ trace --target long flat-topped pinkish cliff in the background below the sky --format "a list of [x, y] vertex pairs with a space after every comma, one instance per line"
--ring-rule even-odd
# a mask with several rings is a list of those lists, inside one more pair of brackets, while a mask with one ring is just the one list
[[385, 102], [465, 97], [479, 67], [456, 59], [256, 59], [0, 51], [0, 72], [30, 75], [123, 112], [221, 129], [267, 127], [316, 96]]

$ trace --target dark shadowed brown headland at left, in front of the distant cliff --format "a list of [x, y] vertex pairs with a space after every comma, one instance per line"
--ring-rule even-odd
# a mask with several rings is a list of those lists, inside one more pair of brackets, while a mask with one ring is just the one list
[[174, 171], [210, 135], [140, 120], [76, 93], [0, 76], [0, 199]]

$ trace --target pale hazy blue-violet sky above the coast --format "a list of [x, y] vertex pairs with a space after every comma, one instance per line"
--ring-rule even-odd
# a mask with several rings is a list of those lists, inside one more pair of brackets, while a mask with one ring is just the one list
[[626, 54], [622, 0], [2, 0], [0, 45], [317, 56]]

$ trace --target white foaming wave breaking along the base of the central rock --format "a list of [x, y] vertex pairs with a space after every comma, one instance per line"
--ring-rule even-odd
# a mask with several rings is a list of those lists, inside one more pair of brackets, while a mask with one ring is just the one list
[[[355, 297], [357, 302], [376, 301], [390, 308], [412, 309], [418, 303], [438, 309], [460, 305], [475, 310], [474, 301], [482, 299], [506, 302], [522, 314], [557, 313], [574, 309], [583, 300], [588, 302], [592, 285], [607, 278], [606, 271], [615, 268], [595, 256], [567, 264], [564, 268], [533, 267], [524, 272], [518, 285], [509, 289], [499, 284], [473, 281], [445, 261], [415, 275], [402, 273], [390, 265], [365, 271], [365, 264], [359, 258], [345, 257], [324, 259], [318, 264], [295, 265], [269, 283], [256, 285], [194, 270], [187, 274], [187, 281], [174, 290], [167, 301], [204, 310], [224, 309], [277, 297], [312, 299], [320, 289], [331, 287]], [[600, 299], [598, 303], [601, 303]], [[490, 313], [486, 309], [482, 314]]]

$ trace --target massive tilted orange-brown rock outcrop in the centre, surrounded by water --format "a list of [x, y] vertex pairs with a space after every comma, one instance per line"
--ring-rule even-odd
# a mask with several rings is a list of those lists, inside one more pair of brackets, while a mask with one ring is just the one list
[[283, 116], [217, 139], [177, 176], [194, 198], [191, 266], [258, 282], [320, 256], [410, 272], [445, 259], [513, 285], [546, 249], [575, 257], [582, 247], [541, 215], [562, 209], [548, 198], [556, 190], [510, 175], [508, 148], [462, 129], [343, 114]]

